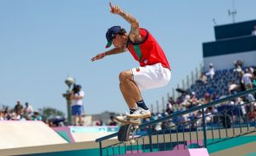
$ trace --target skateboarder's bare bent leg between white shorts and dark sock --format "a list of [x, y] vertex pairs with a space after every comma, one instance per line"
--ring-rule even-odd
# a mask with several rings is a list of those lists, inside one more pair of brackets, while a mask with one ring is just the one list
[[135, 108], [135, 103], [141, 101], [141, 92], [133, 81], [133, 75], [130, 70], [123, 71], [119, 75], [121, 94], [128, 104], [129, 108]]

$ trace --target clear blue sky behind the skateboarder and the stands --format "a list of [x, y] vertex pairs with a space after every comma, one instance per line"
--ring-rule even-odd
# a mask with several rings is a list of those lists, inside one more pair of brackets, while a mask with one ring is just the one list
[[[105, 34], [114, 25], [129, 30], [121, 16], [109, 12], [107, 0], [1, 0], [0, 1], [0, 106], [29, 102], [34, 109], [54, 107], [67, 114], [68, 89], [74, 77], [85, 92], [86, 114], [124, 113], [128, 107], [119, 89], [119, 73], [138, 67], [132, 55], [104, 52]], [[172, 78], [166, 87], [142, 92], [148, 107], [173, 94], [203, 62], [202, 42], [215, 40], [218, 25], [233, 23], [227, 10], [233, 1], [112, 0], [148, 29], [167, 55]], [[235, 22], [255, 19], [255, 0], [235, 0]], [[113, 48], [113, 47], [112, 47]]]

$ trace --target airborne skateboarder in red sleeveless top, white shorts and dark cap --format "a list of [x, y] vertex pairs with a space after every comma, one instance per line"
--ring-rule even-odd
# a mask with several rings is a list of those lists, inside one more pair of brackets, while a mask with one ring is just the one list
[[141, 97], [141, 91], [151, 88], [166, 86], [171, 78], [170, 65], [159, 43], [147, 29], [140, 28], [138, 21], [121, 10], [117, 5], [109, 3], [112, 14], [123, 17], [131, 24], [129, 33], [121, 26], [113, 26], [108, 29], [106, 48], [114, 44], [115, 48], [95, 55], [91, 59], [102, 59], [107, 55], [115, 55], [127, 50], [140, 63], [140, 67], [122, 71], [119, 75], [121, 94], [128, 104], [130, 114], [118, 116], [116, 120], [124, 123], [139, 125], [139, 118], [147, 118], [151, 113]]

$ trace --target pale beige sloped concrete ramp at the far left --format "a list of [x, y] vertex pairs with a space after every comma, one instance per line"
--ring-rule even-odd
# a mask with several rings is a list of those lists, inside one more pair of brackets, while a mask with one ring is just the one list
[[67, 143], [42, 121], [0, 121], [0, 149]]

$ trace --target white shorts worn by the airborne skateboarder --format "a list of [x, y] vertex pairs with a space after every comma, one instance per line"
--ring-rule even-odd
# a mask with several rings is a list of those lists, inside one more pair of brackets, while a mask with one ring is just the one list
[[166, 86], [171, 79], [171, 70], [163, 68], [161, 63], [132, 68], [131, 72], [133, 80], [141, 91]]

